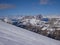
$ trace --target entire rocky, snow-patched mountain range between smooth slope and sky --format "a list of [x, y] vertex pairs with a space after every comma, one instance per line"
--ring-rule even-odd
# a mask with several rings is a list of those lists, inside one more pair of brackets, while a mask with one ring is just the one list
[[13, 24], [50, 38], [60, 40], [60, 18], [42, 18], [37, 16], [5, 17], [4, 22]]

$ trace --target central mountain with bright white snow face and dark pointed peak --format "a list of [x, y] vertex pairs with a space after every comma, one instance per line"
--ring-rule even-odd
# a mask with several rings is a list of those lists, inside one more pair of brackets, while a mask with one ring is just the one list
[[31, 24], [31, 25], [38, 25], [40, 23], [40, 20], [42, 19], [41, 15], [37, 16], [24, 16], [20, 21], [25, 24]]

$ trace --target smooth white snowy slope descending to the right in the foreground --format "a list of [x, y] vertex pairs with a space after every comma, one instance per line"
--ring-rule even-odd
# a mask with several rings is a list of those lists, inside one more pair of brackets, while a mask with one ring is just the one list
[[60, 45], [60, 41], [0, 21], [0, 45]]

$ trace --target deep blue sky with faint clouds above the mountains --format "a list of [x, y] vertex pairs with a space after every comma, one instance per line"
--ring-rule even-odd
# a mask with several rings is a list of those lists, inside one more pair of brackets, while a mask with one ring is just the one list
[[0, 16], [60, 15], [60, 0], [0, 0]]

